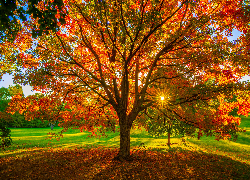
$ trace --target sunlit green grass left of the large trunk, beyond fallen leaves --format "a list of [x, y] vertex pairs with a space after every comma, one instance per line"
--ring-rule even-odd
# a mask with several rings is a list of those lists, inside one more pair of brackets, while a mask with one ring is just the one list
[[56, 139], [46, 139], [51, 135], [49, 132], [59, 133], [63, 128], [54, 127], [53, 130], [48, 128], [10, 128], [11, 138], [13, 145], [6, 148], [6, 150], [0, 150], [0, 156], [6, 155], [17, 155], [23, 151], [30, 151], [32, 149], [39, 148], [70, 148], [71, 146], [97, 146], [106, 144], [110, 139], [113, 139], [112, 143], [117, 145], [118, 140], [115, 137], [119, 136], [119, 132], [108, 133], [108, 137], [98, 138], [88, 138], [90, 132], [80, 132], [78, 129], [69, 129], [67, 132], [63, 133], [63, 138], [59, 141]]

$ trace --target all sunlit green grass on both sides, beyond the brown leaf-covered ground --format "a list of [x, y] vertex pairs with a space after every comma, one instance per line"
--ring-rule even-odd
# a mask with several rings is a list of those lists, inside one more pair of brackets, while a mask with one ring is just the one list
[[[236, 156], [250, 161], [250, 117], [242, 117], [240, 125], [246, 129], [246, 132], [239, 133], [236, 142], [232, 141], [217, 141], [214, 137], [202, 137], [200, 140], [195, 138], [188, 138], [188, 146], [182, 144], [178, 137], [172, 137], [172, 148], [181, 148], [185, 150], [198, 150], [204, 152], [212, 152], [215, 154], [223, 154], [226, 156]], [[32, 150], [33, 148], [70, 148], [74, 146], [105, 146], [118, 148], [119, 147], [119, 132], [107, 133], [107, 137], [88, 138], [90, 132], [80, 132], [78, 129], [69, 129], [63, 133], [63, 138], [60, 141], [56, 139], [45, 139], [49, 137], [47, 133], [59, 133], [63, 128], [55, 127], [53, 130], [50, 128], [10, 128], [11, 138], [14, 144], [7, 148], [5, 151], [0, 150], [0, 156], [17, 155], [22, 151]], [[138, 147], [141, 143], [145, 144], [145, 148], [157, 149], [159, 151], [168, 151], [167, 137], [153, 138], [148, 135], [145, 129], [131, 130], [131, 148]]]

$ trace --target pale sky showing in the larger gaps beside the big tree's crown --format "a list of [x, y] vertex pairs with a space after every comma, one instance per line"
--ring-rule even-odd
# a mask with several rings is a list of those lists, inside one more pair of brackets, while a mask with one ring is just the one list
[[[240, 35], [241, 35], [241, 32], [240, 31], [237, 31], [237, 30], [234, 30], [233, 33], [232, 33], [233, 36], [231, 37], [228, 37], [229, 41], [232, 41], [232, 40], [236, 40]], [[5, 88], [8, 88], [9, 85], [14, 85], [13, 84], [13, 76], [12, 75], [9, 75], [9, 74], [5, 74], [3, 75], [2, 79], [0, 79], [0, 87], [5, 87]], [[250, 81], [250, 76], [245, 76], [241, 79], [241, 81], [247, 81], [249, 80]], [[33, 88], [29, 85], [26, 85], [26, 86], [22, 86], [23, 88], [23, 93], [24, 95], [27, 97], [28, 95], [32, 95], [32, 94], [35, 94], [35, 93], [39, 93], [38, 91], [33, 91]]]

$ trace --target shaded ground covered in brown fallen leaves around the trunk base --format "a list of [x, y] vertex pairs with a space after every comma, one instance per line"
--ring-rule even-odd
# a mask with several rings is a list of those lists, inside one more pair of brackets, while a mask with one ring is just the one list
[[0, 158], [0, 179], [250, 179], [250, 165], [230, 158], [171, 148], [132, 149], [133, 161], [113, 158], [117, 148], [50, 149]]

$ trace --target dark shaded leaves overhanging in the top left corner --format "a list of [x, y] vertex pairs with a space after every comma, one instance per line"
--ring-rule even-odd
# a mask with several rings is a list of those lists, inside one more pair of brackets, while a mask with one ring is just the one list
[[[28, 8], [24, 7], [28, 6]], [[41, 10], [43, 8], [43, 10]], [[0, 40], [14, 41], [21, 29], [21, 21], [26, 22], [28, 15], [38, 18], [38, 30], [33, 30], [34, 36], [41, 35], [48, 30], [55, 31], [57, 20], [65, 23], [63, 1], [32, 1], [32, 0], [1, 0], [0, 6]], [[59, 17], [58, 17], [59, 16]]]

